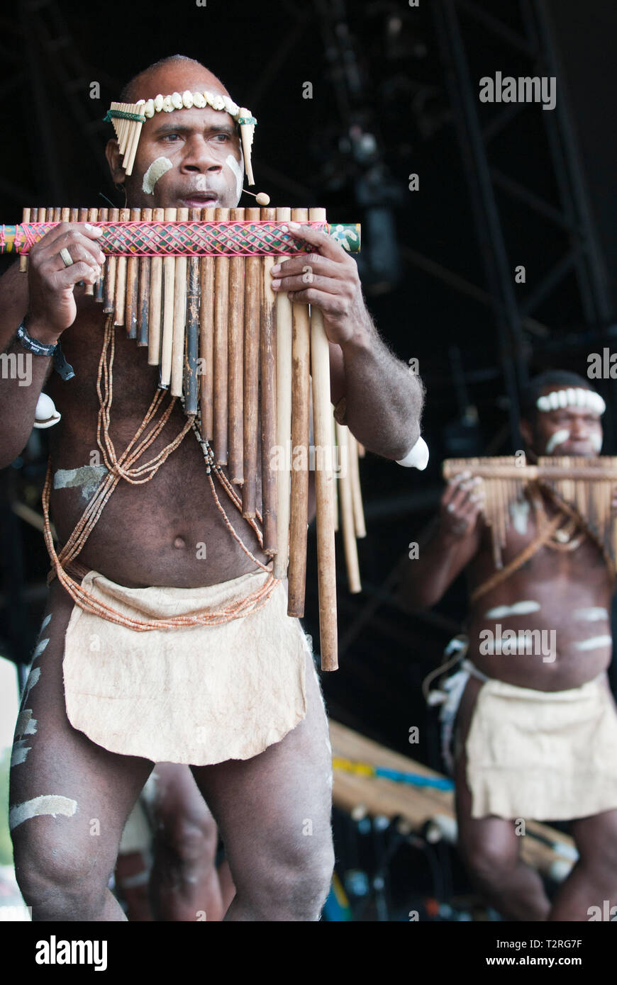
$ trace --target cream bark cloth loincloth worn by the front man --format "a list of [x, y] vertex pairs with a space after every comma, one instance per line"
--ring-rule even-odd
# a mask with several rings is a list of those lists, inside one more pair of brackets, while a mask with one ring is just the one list
[[[206, 588], [125, 588], [97, 571], [82, 585], [122, 615], [167, 619], [229, 606], [260, 587], [249, 572]], [[112, 753], [207, 765], [247, 759], [307, 713], [309, 643], [276, 585], [266, 606], [218, 625], [136, 632], [75, 606], [66, 631], [69, 721]]]

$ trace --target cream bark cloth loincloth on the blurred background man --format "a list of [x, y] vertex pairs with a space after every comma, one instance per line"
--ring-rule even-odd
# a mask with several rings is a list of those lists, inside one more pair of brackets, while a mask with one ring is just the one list
[[465, 745], [472, 818], [572, 821], [617, 809], [617, 712], [604, 674], [534, 690], [464, 660], [445, 685], [445, 743], [470, 676], [483, 682]]

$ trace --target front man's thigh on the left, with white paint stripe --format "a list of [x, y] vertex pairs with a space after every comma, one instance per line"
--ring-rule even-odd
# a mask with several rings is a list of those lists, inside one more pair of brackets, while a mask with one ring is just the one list
[[[73, 603], [56, 583], [49, 602], [16, 727], [10, 824], [20, 866], [47, 876], [90, 867], [112, 870], [122, 826], [152, 763], [108, 753], [66, 716], [62, 679], [64, 635]], [[84, 660], [88, 654], [84, 654]], [[45, 861], [46, 860], [46, 861]]]

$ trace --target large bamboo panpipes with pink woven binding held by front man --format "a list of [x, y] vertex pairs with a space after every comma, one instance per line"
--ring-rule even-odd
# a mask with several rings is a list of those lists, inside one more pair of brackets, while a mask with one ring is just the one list
[[242, 515], [260, 511], [263, 549], [275, 577], [288, 578], [288, 613], [298, 617], [314, 453], [321, 667], [335, 670], [337, 502], [349, 586], [361, 591], [359, 449], [347, 427], [335, 431], [321, 312], [272, 291], [272, 266], [313, 248], [289, 232], [290, 220], [325, 230], [350, 251], [360, 248], [359, 226], [329, 226], [323, 209], [110, 208], [25, 209], [22, 226], [0, 226], [0, 252], [20, 253], [24, 270], [29, 250], [55, 224], [87, 221], [103, 230], [97, 244], [107, 260], [89, 293], [147, 348], [159, 386], [182, 399], [187, 415], [198, 415], [216, 465], [241, 487]]

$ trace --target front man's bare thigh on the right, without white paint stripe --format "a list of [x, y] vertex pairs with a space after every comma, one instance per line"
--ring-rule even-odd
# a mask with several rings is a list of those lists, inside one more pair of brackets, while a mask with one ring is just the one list
[[263, 753], [192, 767], [240, 883], [256, 864], [273, 858], [284, 863], [331, 853], [332, 752], [309, 655], [307, 700], [303, 721]]

